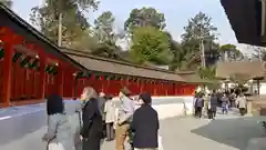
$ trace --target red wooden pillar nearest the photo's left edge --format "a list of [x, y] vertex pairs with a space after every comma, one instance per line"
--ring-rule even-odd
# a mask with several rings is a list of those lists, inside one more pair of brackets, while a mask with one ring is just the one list
[[10, 104], [11, 96], [11, 76], [12, 76], [12, 57], [13, 57], [13, 47], [10, 43], [4, 43], [4, 58], [3, 58], [3, 102], [4, 107]]

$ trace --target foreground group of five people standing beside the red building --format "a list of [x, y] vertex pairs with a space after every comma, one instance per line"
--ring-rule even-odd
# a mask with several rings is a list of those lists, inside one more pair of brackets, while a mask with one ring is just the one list
[[134, 150], [156, 150], [160, 123], [151, 94], [143, 92], [134, 100], [130, 90], [123, 88], [117, 97], [121, 104], [115, 106], [113, 96], [84, 88], [75, 109], [79, 116], [75, 129], [65, 113], [63, 99], [58, 94], [49, 97], [48, 130], [42, 138], [47, 149], [100, 150], [103, 140], [115, 140], [115, 150], [125, 150], [125, 143]]

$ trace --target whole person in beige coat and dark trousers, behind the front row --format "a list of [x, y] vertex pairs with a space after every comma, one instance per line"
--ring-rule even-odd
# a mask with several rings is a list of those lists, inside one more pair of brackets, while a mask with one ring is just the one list
[[113, 102], [112, 96], [106, 96], [108, 101], [104, 106], [104, 113], [105, 113], [105, 124], [106, 124], [106, 140], [112, 141], [114, 140], [114, 121], [115, 121], [115, 103]]

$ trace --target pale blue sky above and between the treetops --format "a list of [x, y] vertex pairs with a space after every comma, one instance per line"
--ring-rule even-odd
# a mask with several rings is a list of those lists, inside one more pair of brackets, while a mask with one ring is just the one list
[[[31, 8], [41, 4], [43, 0], [13, 0], [13, 10], [27, 21]], [[228, 23], [227, 17], [219, 3], [219, 0], [100, 0], [101, 4], [96, 12], [90, 12], [88, 18], [93, 20], [101, 12], [110, 10], [115, 16], [115, 26], [123, 28], [123, 22], [127, 19], [130, 11], [134, 8], [153, 7], [165, 14], [166, 30], [171, 31], [176, 40], [183, 32], [183, 27], [187, 20], [200, 11], [213, 18], [213, 24], [218, 28], [219, 42], [237, 43], [235, 34]]]

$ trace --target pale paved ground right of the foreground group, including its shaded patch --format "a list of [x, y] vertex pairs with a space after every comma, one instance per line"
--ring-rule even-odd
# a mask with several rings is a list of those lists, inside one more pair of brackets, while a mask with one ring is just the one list
[[[259, 118], [239, 117], [235, 111], [217, 119], [171, 118], [161, 120], [164, 150], [246, 150], [252, 138], [262, 137]], [[102, 150], [114, 150], [104, 143]]]

